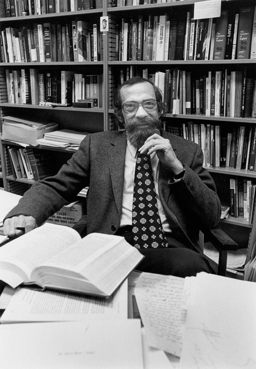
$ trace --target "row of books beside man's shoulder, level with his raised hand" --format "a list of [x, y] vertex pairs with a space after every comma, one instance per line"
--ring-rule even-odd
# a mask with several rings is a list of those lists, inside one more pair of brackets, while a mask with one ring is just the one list
[[231, 131], [218, 124], [165, 124], [166, 131], [201, 146], [204, 165], [256, 172], [256, 127], [235, 126]]

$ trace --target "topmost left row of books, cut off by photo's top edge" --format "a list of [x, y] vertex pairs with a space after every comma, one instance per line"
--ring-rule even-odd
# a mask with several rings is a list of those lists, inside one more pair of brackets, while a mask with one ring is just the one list
[[21, 17], [100, 8], [102, 0], [1, 0], [0, 16]]

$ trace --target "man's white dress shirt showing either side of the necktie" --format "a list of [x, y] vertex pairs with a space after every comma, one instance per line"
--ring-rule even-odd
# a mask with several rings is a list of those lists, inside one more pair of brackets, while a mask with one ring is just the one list
[[[136, 152], [137, 149], [133, 145], [131, 145], [129, 141], [127, 141], [125, 153], [125, 178], [123, 182], [123, 205], [120, 227], [123, 227], [125, 225], [132, 225], [133, 184], [137, 159]], [[157, 196], [158, 213], [162, 222], [162, 227], [164, 232], [171, 232], [158, 193], [159, 159], [155, 152], [150, 155], [150, 159], [154, 177], [155, 193]]]

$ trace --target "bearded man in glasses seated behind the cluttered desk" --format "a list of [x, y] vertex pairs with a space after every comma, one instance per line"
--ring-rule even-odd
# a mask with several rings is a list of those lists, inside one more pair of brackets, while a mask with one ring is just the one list
[[[125, 130], [87, 135], [57, 175], [24, 194], [7, 215], [4, 233], [18, 237], [23, 232], [15, 227], [32, 230], [89, 186], [87, 233], [123, 235], [145, 255], [137, 269], [181, 277], [214, 273], [216, 265], [197, 242], [199, 227], [214, 227], [220, 219], [201, 148], [161, 129], [164, 104], [150, 81], [127, 80], [114, 104]], [[143, 182], [140, 163], [147, 168]]]

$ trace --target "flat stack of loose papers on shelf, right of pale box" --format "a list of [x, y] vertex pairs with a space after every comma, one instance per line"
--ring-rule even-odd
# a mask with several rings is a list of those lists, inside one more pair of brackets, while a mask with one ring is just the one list
[[38, 139], [36, 142], [43, 146], [72, 147], [78, 149], [81, 141], [83, 141], [87, 134], [87, 132], [59, 130], [46, 133], [43, 138]]

